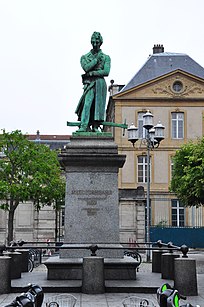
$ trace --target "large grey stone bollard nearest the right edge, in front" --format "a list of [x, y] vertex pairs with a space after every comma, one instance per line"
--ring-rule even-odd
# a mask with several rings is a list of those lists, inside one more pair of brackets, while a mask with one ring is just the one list
[[198, 295], [195, 259], [174, 260], [174, 287], [182, 295]]

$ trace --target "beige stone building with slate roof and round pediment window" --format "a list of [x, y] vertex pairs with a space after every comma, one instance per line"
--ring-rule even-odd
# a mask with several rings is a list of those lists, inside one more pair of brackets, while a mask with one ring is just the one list
[[[204, 133], [204, 68], [186, 54], [164, 52], [162, 45], [155, 45], [153, 54], [130, 82], [121, 89], [112, 80], [109, 91], [107, 120], [126, 120], [139, 129], [135, 147], [128, 142], [127, 133], [123, 136], [117, 128], [113, 132], [119, 153], [127, 156], [119, 175], [121, 241], [145, 238], [147, 151], [143, 114], [148, 110], [154, 115], [154, 124], [161, 121], [165, 126], [165, 139], [150, 152], [151, 225], [203, 226], [204, 208], [184, 208], [169, 192], [169, 185], [175, 151]], [[138, 197], [138, 187], [144, 188], [145, 196]]]

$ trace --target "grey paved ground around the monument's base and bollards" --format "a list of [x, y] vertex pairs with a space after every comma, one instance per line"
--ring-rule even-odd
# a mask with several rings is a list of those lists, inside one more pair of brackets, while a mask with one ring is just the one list
[[[194, 255], [192, 255], [194, 257]], [[199, 304], [204, 306], [204, 262], [203, 255], [196, 255], [197, 262], [197, 282], [198, 282], [198, 296], [189, 296], [187, 301], [192, 305]], [[71, 293], [77, 298], [76, 307], [122, 307], [122, 301], [130, 296], [136, 295], [139, 297], [151, 299], [156, 301], [156, 289], [164, 282], [169, 282], [173, 285], [172, 280], [161, 279], [160, 273], [151, 272], [151, 264], [142, 263], [139, 272], [137, 272], [137, 279], [132, 281], [106, 281], [106, 293], [90, 295], [79, 292], [81, 281], [68, 280], [47, 280], [46, 267], [41, 265], [34, 269], [32, 273], [22, 273], [22, 277], [12, 280], [12, 293], [0, 295], [0, 307], [9, 304], [18, 293], [23, 292], [29, 282], [37, 283], [45, 290], [45, 299], [48, 296], [53, 296], [56, 293], [64, 292]], [[76, 290], [76, 292], [74, 292]], [[13, 292], [15, 291], [15, 293]], [[181, 301], [185, 303], [185, 301]], [[45, 306], [45, 305], [44, 305]]]

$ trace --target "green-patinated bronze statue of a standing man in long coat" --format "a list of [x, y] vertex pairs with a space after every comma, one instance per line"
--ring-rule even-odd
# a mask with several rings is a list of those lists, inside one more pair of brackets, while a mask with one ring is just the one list
[[103, 38], [99, 32], [91, 36], [93, 49], [81, 57], [81, 67], [84, 93], [78, 103], [75, 113], [81, 121], [79, 132], [97, 131], [105, 119], [107, 86], [104, 77], [110, 72], [110, 57], [100, 49]]

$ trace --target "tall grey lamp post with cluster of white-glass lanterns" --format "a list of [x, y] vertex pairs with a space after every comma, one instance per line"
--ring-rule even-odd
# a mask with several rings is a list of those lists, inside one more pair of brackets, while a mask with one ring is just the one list
[[[151, 112], [147, 111], [143, 115], [143, 127], [146, 129], [147, 133], [143, 139], [147, 148], [147, 225], [146, 225], [146, 240], [150, 242], [150, 150], [158, 148], [160, 142], [164, 139], [164, 129], [165, 127], [159, 122], [156, 126], [153, 125], [153, 115]], [[138, 128], [133, 124], [128, 128], [128, 141], [130, 141], [133, 146], [139, 139]], [[147, 250], [147, 261], [150, 261], [150, 250]]]

